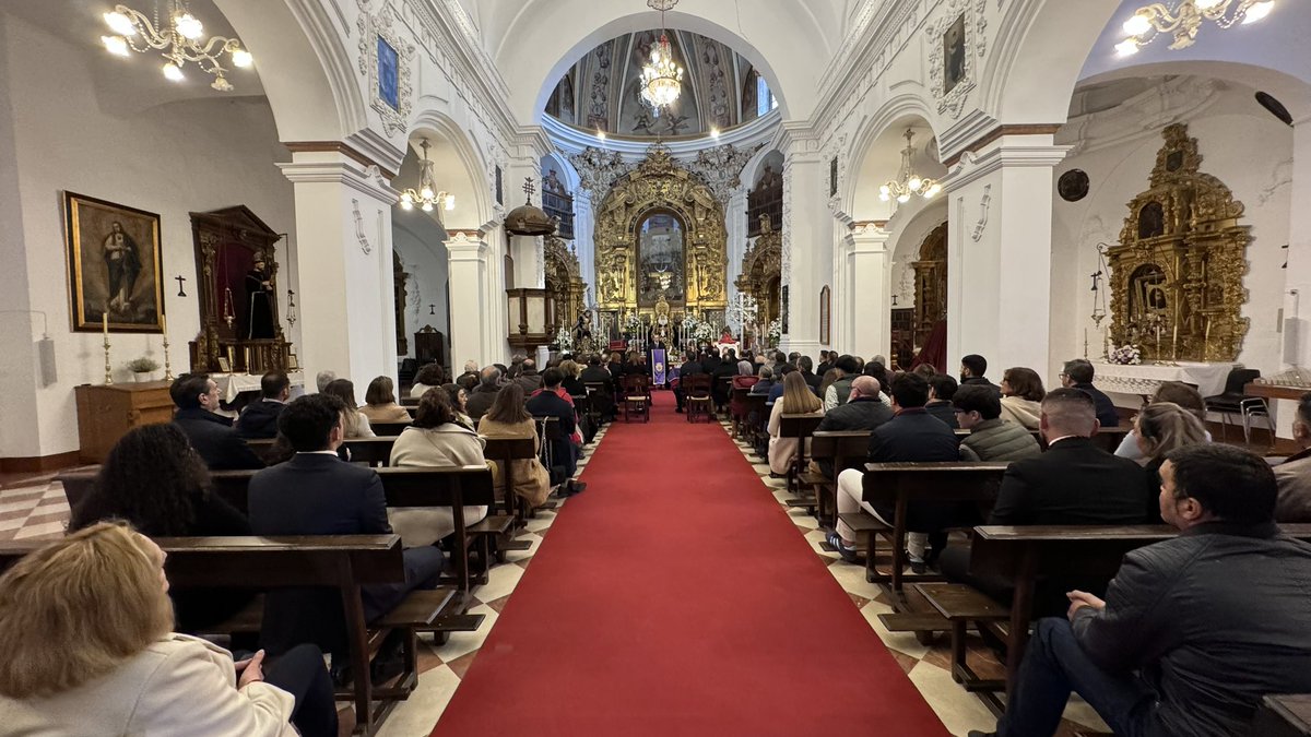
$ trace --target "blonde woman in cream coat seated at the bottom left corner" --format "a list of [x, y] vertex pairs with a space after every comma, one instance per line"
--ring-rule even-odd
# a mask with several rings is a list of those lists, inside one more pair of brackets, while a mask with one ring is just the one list
[[[164, 551], [101, 522], [0, 576], [5, 734], [337, 734], [323, 653], [232, 653], [173, 632]], [[295, 725], [295, 729], [291, 725]]]

